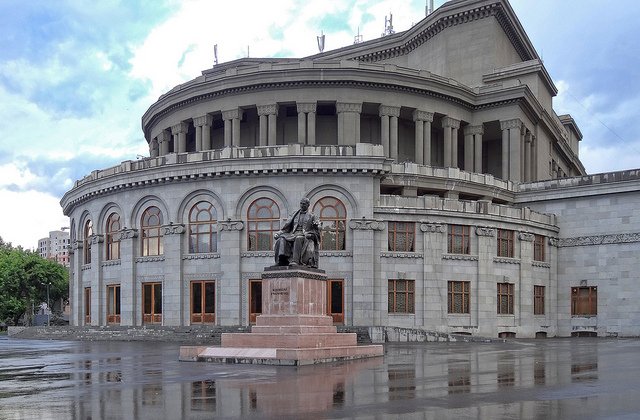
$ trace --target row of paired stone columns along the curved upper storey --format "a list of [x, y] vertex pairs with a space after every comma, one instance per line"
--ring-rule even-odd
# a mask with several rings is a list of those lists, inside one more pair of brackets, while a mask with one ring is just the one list
[[[337, 113], [337, 144], [355, 145], [360, 143], [360, 115], [362, 103], [336, 102]], [[259, 129], [257, 146], [275, 146], [277, 136], [277, 118], [280, 106], [278, 104], [258, 105]], [[317, 103], [298, 102], [297, 111], [297, 138], [299, 144], [316, 144], [316, 115]], [[380, 143], [386, 156], [398, 160], [399, 135], [398, 123], [401, 107], [379, 105], [380, 117]], [[240, 146], [240, 129], [243, 117], [242, 108], [234, 108], [218, 112], [224, 122], [224, 147]], [[432, 164], [432, 127], [434, 112], [415, 109], [412, 113], [415, 136], [414, 156], [415, 162], [420, 165]], [[459, 119], [451, 116], [440, 116], [442, 129], [442, 153], [444, 167], [459, 167], [469, 172], [483, 173], [483, 136], [485, 123], [464, 124]], [[214, 122], [212, 114], [193, 118], [195, 128], [195, 151], [210, 150], [212, 147], [211, 126]], [[497, 124], [497, 122], [496, 122]], [[529, 182], [537, 179], [536, 165], [536, 141], [533, 133], [526, 128], [518, 118], [500, 120], [501, 139], [501, 173], [495, 174], [505, 180], [514, 182]], [[440, 128], [439, 127], [439, 128]], [[462, 128], [464, 140], [462, 154], [458, 153], [459, 131]], [[163, 131], [153, 138], [149, 144], [151, 157], [162, 156], [170, 153], [170, 142], [173, 152], [185, 153], [187, 151], [187, 133], [189, 123], [181, 121]], [[459, 162], [458, 156], [463, 156]]]

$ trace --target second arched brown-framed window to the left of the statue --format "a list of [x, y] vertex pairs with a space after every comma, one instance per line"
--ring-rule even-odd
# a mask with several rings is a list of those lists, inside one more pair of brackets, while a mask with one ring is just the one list
[[189, 252], [216, 252], [218, 250], [218, 215], [213, 204], [200, 201], [189, 212]]

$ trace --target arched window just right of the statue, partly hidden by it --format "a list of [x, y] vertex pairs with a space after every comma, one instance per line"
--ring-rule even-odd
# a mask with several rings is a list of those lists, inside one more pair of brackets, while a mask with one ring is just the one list
[[344, 251], [347, 233], [347, 210], [335, 197], [323, 197], [313, 206], [313, 212], [322, 222], [320, 249]]

